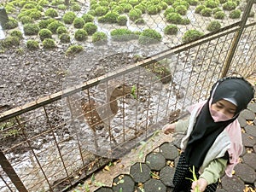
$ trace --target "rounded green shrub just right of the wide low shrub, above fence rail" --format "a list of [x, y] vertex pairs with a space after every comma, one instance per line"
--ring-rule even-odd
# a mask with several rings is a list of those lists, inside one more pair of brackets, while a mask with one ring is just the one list
[[156, 32], [154, 29], [145, 29], [140, 34], [138, 42], [140, 44], [155, 44], [159, 43], [161, 40], [161, 35], [159, 32]]

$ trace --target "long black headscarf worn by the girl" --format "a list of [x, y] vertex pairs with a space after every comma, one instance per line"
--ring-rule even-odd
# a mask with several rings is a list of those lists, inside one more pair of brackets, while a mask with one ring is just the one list
[[[218, 134], [224, 131], [224, 128], [238, 117], [241, 110], [247, 108], [247, 104], [253, 99], [253, 96], [252, 85], [242, 78], [219, 79], [212, 86], [210, 97], [201, 109], [201, 113], [197, 116], [194, 129], [190, 134], [189, 142], [184, 151], [185, 158], [190, 165], [200, 168], [208, 149], [211, 148]], [[221, 99], [236, 102], [235, 117], [227, 121], [214, 122], [209, 110], [211, 97], [212, 103]]]

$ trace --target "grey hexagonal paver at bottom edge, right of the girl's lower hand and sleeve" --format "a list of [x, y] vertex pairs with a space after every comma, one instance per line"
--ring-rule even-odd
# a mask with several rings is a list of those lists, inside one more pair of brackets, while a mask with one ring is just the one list
[[222, 187], [228, 192], [241, 192], [244, 189], [243, 181], [236, 177], [227, 177], [224, 176], [221, 180]]

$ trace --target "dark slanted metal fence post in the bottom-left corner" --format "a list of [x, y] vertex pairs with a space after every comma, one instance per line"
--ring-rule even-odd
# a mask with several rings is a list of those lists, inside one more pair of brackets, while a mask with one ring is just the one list
[[9, 160], [6, 159], [2, 150], [0, 150], [0, 165], [2, 166], [3, 171], [6, 172], [12, 183], [15, 184], [15, 187], [16, 189], [18, 189], [19, 192], [28, 192], [24, 184], [21, 182], [20, 177], [15, 172], [13, 166], [11, 166], [11, 164], [9, 163]]

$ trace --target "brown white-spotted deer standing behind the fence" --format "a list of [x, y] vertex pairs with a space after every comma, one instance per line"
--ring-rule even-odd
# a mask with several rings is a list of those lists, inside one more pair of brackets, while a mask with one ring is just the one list
[[[99, 148], [96, 142], [96, 131], [102, 130], [108, 126], [109, 137], [114, 143], [117, 143], [113, 137], [110, 123], [115, 115], [119, 111], [118, 99], [121, 96], [127, 96], [131, 94], [131, 86], [127, 84], [115, 84], [108, 87], [106, 90], [105, 104], [96, 102], [95, 99], [89, 98], [89, 101], [84, 99], [76, 100], [73, 105], [73, 109], [78, 110], [80, 108], [82, 115], [75, 114], [79, 121], [85, 121], [93, 132], [94, 143], [96, 149]], [[78, 106], [79, 104], [79, 106]]]

